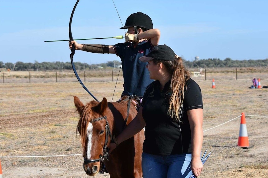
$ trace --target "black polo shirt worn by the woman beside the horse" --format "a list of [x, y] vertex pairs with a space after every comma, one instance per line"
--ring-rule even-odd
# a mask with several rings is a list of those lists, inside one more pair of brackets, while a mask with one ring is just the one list
[[191, 130], [187, 111], [196, 108], [203, 109], [201, 89], [192, 79], [188, 80], [184, 90], [181, 121], [178, 122], [168, 115], [171, 93], [170, 81], [160, 92], [158, 80], [152, 82], [146, 89], [141, 103], [142, 116], [146, 122], [143, 151], [155, 155], [171, 155], [191, 153]]

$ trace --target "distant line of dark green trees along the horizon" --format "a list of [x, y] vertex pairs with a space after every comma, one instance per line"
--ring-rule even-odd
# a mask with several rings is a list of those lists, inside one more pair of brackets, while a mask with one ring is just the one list
[[[119, 61], [108, 61], [107, 63], [100, 64], [87, 64], [81, 62], [75, 62], [75, 68], [77, 70], [85, 69], [99, 69], [99, 68], [119, 68], [121, 62]], [[185, 61], [185, 65], [189, 68], [211, 68], [211, 67], [268, 67], [268, 59], [258, 60], [232, 60], [226, 58], [220, 60], [219, 58], [213, 59], [199, 59], [194, 61]], [[0, 61], [0, 68], [10, 69], [11, 71], [53, 71], [53, 70], [70, 70], [72, 69], [71, 62], [42, 62], [39, 63], [3, 63]]]

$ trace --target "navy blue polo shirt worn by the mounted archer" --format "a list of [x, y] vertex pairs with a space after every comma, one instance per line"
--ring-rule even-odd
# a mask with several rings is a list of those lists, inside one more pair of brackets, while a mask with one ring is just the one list
[[153, 48], [150, 40], [141, 41], [136, 48], [130, 42], [118, 43], [114, 45], [117, 56], [122, 61], [124, 77], [124, 95], [137, 95], [142, 97], [146, 87], [154, 80], [150, 79], [150, 74], [146, 68], [147, 63], [141, 62], [140, 57], [148, 54]]

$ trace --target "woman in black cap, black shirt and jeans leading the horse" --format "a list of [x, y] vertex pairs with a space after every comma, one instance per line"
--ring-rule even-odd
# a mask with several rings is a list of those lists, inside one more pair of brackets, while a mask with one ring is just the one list
[[197, 177], [203, 168], [201, 89], [169, 46], [155, 46], [140, 60], [148, 62], [155, 81], [146, 88], [135, 119], [114, 137], [110, 151], [145, 127], [144, 178]]

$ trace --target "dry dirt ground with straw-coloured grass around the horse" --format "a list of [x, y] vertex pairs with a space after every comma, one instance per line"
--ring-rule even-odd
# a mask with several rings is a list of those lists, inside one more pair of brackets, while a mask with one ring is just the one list
[[[204, 104], [202, 151], [212, 151], [200, 178], [267, 177], [268, 89], [249, 89], [254, 77], [261, 79], [262, 86], [268, 85], [267, 72], [239, 74], [238, 80], [232, 73], [210, 73], [206, 80], [193, 77], [201, 87]], [[113, 101], [120, 98], [122, 84], [118, 81]], [[115, 81], [90, 80], [85, 85], [99, 100], [112, 100]], [[89, 177], [76, 137], [78, 114], [73, 96], [84, 103], [93, 98], [77, 81], [0, 83], [0, 92], [3, 178]], [[248, 149], [237, 146], [242, 112], [246, 114]], [[109, 174], [97, 177], [109, 178]]]

